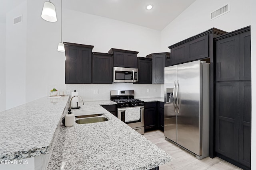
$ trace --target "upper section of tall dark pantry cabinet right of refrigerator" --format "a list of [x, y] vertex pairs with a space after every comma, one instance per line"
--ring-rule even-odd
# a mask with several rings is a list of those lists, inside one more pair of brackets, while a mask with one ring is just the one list
[[216, 81], [251, 80], [250, 27], [222, 35], [216, 42]]

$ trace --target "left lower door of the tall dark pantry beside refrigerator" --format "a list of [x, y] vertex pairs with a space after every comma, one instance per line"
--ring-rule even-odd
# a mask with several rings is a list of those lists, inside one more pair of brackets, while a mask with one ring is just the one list
[[238, 160], [238, 113], [238, 83], [217, 83], [215, 151], [234, 160]]

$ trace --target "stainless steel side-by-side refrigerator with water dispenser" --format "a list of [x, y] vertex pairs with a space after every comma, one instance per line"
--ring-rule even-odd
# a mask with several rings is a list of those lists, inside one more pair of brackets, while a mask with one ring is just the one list
[[164, 136], [198, 159], [209, 155], [209, 66], [193, 61], [164, 68]]

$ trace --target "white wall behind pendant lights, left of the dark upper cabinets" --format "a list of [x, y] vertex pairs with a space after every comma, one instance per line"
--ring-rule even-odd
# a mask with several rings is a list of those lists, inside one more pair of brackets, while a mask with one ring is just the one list
[[41, 18], [45, 0], [27, 0], [26, 102], [49, 95], [48, 84], [65, 83], [65, 53], [60, 42], [60, 1], [54, 0], [57, 22]]

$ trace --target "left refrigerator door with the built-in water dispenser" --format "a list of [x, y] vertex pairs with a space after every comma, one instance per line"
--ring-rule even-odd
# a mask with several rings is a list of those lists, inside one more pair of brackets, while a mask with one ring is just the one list
[[164, 136], [177, 143], [176, 81], [177, 66], [164, 68]]

